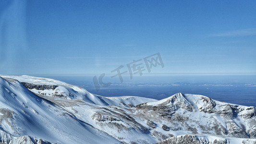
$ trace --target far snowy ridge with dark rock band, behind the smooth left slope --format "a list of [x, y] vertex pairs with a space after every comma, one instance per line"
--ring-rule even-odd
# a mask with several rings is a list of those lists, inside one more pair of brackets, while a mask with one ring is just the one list
[[0, 75], [3, 78], [12, 78], [18, 80], [25, 87], [32, 92], [43, 95], [61, 97], [64, 99], [82, 99], [84, 101], [97, 104], [97, 105], [115, 105], [115, 106], [126, 106], [134, 107], [144, 102], [157, 101], [151, 98], [138, 97], [138, 96], [121, 96], [121, 97], [104, 97], [97, 96], [89, 93], [86, 89], [67, 84], [58, 80], [49, 78], [40, 78], [33, 76], [13, 76], [13, 75]]

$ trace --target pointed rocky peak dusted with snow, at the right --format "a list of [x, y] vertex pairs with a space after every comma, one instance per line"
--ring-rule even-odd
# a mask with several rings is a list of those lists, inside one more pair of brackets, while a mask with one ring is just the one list
[[[137, 115], [161, 124], [164, 131], [211, 133], [238, 138], [256, 138], [254, 107], [223, 103], [206, 96], [175, 94], [164, 100], [135, 107]], [[152, 124], [154, 121], [154, 125]], [[164, 122], [165, 121], [165, 122]], [[225, 123], [225, 124], [223, 124]]]

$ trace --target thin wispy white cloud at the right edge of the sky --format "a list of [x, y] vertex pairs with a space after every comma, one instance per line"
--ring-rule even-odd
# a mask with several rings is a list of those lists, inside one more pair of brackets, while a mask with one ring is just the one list
[[219, 34], [212, 34], [210, 36], [223, 37], [223, 36], [255, 36], [255, 35], [256, 35], [256, 28], [248, 28], [248, 29], [229, 31], [229, 32], [224, 32]]

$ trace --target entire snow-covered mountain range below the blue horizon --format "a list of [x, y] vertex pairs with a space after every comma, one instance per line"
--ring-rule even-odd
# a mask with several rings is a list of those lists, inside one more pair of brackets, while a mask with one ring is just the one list
[[58, 80], [0, 75], [6, 144], [256, 144], [255, 138], [254, 107], [181, 93], [104, 97]]

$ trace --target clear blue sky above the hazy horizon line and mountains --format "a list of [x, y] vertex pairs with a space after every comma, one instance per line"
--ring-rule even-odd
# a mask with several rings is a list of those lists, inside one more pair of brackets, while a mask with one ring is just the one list
[[158, 52], [151, 73], [256, 73], [256, 1], [0, 0], [0, 74], [125, 71]]

